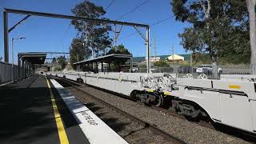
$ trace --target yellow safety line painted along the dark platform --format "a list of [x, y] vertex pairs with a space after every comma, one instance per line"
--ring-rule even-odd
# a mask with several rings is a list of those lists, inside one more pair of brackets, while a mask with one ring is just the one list
[[[46, 79], [46, 82], [47, 82], [47, 85], [50, 89], [50, 83], [47, 79]], [[50, 89], [50, 99], [51, 99], [51, 102], [52, 102], [53, 108], [54, 108], [54, 118], [55, 118], [56, 125], [57, 125], [57, 128], [58, 128], [58, 138], [59, 138], [61, 144], [69, 144], [69, 140], [66, 136], [66, 131], [65, 131], [65, 128], [63, 126], [62, 118], [61, 118], [61, 116], [58, 112], [58, 106], [56, 105], [56, 102], [55, 102], [55, 99], [54, 99], [54, 93], [52, 92], [51, 89]]]

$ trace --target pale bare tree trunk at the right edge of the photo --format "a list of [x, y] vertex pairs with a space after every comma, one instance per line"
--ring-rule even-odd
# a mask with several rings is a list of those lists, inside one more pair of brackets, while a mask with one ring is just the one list
[[255, 14], [256, 0], [246, 0], [246, 6], [250, 18], [250, 64], [251, 74], [256, 74], [256, 14]]

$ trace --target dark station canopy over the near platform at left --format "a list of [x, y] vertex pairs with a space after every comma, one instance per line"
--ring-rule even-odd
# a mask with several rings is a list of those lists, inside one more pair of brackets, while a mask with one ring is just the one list
[[18, 53], [18, 58], [31, 64], [43, 64], [46, 60], [46, 52]]

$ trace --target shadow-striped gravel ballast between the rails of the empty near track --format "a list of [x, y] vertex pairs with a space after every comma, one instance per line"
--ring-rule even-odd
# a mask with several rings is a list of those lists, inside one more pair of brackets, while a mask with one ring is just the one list
[[156, 143], [156, 144], [172, 144], [163, 138], [161, 135], [155, 134], [149, 130], [147, 126], [143, 126], [125, 115], [118, 113], [114, 109], [98, 102], [94, 98], [90, 98], [85, 93], [82, 93], [76, 89], [69, 89], [69, 92], [77, 96], [80, 102], [94, 112], [99, 118], [102, 119], [110, 128], [116, 131], [122, 138], [129, 143], [144, 144], [144, 143]]

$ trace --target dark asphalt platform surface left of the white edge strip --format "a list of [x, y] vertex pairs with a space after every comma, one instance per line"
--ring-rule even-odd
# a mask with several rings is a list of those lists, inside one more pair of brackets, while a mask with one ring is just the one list
[[[1, 144], [90, 143], [57, 90], [51, 91], [46, 78], [39, 75], [0, 87]], [[54, 95], [54, 100], [51, 95]], [[59, 123], [63, 129], [59, 128]], [[63, 131], [68, 142], [61, 138]]]

